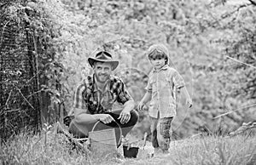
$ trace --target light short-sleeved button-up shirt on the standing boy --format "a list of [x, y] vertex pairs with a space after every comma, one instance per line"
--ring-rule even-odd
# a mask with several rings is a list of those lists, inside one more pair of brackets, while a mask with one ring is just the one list
[[176, 115], [176, 90], [183, 88], [185, 83], [183, 77], [173, 68], [164, 65], [160, 71], [149, 74], [147, 91], [152, 94], [149, 105], [149, 116], [173, 117]]

